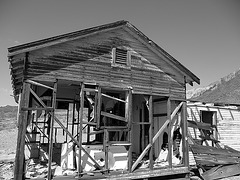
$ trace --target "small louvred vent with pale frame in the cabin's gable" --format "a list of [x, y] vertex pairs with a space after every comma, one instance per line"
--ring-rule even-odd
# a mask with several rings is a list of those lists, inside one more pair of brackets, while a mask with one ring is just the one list
[[112, 65], [123, 68], [130, 68], [131, 61], [128, 50], [113, 48], [112, 49]]

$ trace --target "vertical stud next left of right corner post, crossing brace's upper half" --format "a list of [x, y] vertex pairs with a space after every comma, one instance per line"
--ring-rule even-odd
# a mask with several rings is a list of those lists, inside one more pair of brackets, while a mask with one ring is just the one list
[[169, 97], [167, 100], [167, 118], [169, 119], [169, 126], [168, 126], [168, 162], [169, 167], [172, 168], [172, 118], [171, 118], [171, 98]]

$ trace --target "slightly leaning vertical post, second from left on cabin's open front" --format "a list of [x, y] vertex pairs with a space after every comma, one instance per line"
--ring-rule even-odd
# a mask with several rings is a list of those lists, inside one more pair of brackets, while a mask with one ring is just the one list
[[52, 179], [52, 151], [53, 151], [53, 127], [54, 127], [54, 115], [57, 98], [57, 81], [54, 83], [53, 98], [52, 98], [52, 114], [50, 123], [50, 142], [48, 148], [48, 180]]

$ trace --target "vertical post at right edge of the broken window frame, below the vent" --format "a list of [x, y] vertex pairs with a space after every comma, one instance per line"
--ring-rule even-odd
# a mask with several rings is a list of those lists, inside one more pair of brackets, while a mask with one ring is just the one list
[[127, 110], [128, 110], [128, 142], [131, 144], [128, 149], [128, 171], [132, 172], [132, 90], [127, 92]]

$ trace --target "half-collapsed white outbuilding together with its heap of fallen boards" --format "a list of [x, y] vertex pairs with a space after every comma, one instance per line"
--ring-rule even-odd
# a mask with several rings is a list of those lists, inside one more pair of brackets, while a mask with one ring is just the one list
[[240, 174], [239, 117], [236, 105], [188, 102], [190, 150], [204, 180]]

